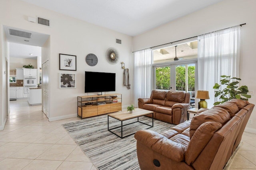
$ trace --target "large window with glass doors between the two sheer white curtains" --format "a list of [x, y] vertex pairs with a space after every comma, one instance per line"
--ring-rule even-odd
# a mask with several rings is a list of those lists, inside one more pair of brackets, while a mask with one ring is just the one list
[[[174, 57], [178, 60], [174, 61]], [[153, 50], [154, 89], [185, 91], [194, 103], [197, 88], [197, 40]], [[192, 106], [193, 107], [193, 106]]]

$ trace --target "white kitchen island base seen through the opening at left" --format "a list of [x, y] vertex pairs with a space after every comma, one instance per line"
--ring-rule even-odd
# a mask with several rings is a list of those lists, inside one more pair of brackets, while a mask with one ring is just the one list
[[42, 105], [42, 88], [30, 88], [28, 93], [28, 103], [32, 106]]

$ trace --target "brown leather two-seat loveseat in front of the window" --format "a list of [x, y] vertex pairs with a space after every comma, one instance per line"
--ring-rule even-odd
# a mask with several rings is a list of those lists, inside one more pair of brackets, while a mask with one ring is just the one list
[[187, 120], [190, 94], [152, 90], [150, 98], [139, 98], [138, 107], [154, 111], [154, 119], [178, 125]]

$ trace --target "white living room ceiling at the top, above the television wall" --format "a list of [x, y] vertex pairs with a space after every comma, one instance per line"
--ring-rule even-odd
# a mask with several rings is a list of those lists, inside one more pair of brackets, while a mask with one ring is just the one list
[[222, 0], [23, 1], [120, 33], [135, 36]]

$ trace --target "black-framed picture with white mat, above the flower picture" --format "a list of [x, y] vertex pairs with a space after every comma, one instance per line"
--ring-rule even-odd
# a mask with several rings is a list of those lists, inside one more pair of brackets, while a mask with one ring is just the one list
[[76, 71], [76, 55], [60, 54], [60, 70]]

